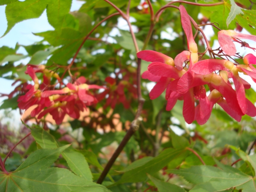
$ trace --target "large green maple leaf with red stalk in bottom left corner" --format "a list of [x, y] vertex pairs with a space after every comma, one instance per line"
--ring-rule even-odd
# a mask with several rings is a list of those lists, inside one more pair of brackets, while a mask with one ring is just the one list
[[90, 191], [109, 192], [104, 186], [74, 175], [67, 169], [48, 168], [69, 145], [39, 149], [8, 175], [0, 172], [0, 189], [6, 192]]

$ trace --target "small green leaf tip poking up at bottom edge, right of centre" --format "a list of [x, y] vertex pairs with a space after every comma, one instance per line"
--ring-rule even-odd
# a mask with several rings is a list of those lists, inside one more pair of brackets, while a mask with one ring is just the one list
[[158, 180], [155, 177], [152, 177], [151, 175], [148, 175], [148, 178], [155, 184], [159, 192], [167, 192], [167, 191], [185, 192], [185, 190], [180, 186], [177, 186], [162, 180]]

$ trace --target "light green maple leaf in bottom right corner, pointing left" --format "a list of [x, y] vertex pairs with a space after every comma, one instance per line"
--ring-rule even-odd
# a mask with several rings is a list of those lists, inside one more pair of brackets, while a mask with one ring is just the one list
[[189, 169], [167, 170], [184, 177], [190, 183], [196, 184], [191, 192], [216, 192], [233, 187], [243, 189], [243, 192], [256, 191], [255, 178], [231, 166], [223, 165], [219, 169], [213, 166], [192, 166]]

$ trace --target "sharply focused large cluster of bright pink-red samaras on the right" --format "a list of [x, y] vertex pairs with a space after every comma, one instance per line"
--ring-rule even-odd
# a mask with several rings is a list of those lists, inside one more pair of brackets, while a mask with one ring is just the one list
[[[245, 97], [244, 89], [249, 89], [250, 84], [239, 76], [239, 72], [244, 73], [256, 82], [256, 69], [252, 66], [256, 64], [256, 57], [248, 54], [244, 57], [244, 64], [239, 65], [225, 59], [198, 61], [198, 48], [193, 38], [190, 18], [183, 6], [180, 6], [180, 14], [188, 51], [178, 54], [175, 60], [150, 50], [137, 53], [138, 58], [152, 62], [142, 75], [143, 79], [157, 82], [149, 94], [150, 98], [155, 99], [166, 90], [167, 111], [172, 110], [177, 99], [183, 100], [183, 116], [189, 124], [194, 120], [200, 125], [206, 123], [215, 103], [237, 121], [244, 114], [256, 116], [255, 106]], [[256, 36], [253, 35], [222, 30], [218, 32], [222, 52], [229, 56], [235, 55], [233, 41], [238, 41], [238, 38], [256, 41]], [[189, 61], [188, 68], [183, 67], [185, 61]], [[233, 79], [235, 90], [230, 84], [230, 78]], [[208, 96], [204, 85], [209, 87]], [[198, 100], [196, 106], [195, 99]]]

